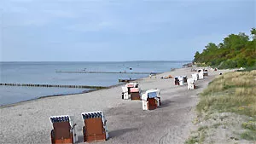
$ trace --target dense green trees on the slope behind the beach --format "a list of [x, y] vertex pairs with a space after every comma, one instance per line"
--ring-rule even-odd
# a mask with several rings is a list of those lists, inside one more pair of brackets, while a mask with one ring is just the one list
[[208, 43], [201, 53], [196, 51], [193, 62], [197, 65], [218, 68], [256, 66], [256, 29], [251, 36], [245, 33], [230, 34], [223, 43]]

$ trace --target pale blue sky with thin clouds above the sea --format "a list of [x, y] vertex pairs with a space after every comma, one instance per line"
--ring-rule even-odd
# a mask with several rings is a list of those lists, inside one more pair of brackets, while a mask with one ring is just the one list
[[255, 0], [1, 0], [0, 61], [193, 60], [256, 27]]

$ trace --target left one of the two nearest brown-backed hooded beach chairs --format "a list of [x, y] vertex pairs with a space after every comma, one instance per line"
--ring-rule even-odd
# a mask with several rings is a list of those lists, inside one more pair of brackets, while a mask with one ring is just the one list
[[68, 115], [52, 116], [49, 118], [53, 124], [53, 130], [51, 130], [51, 143], [76, 143], [78, 137], [73, 124], [73, 118]]

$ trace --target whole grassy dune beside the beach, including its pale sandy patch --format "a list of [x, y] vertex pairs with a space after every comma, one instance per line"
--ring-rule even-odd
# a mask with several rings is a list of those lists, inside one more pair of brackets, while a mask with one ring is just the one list
[[201, 93], [196, 110], [199, 128], [186, 143], [256, 142], [256, 70], [214, 79]]

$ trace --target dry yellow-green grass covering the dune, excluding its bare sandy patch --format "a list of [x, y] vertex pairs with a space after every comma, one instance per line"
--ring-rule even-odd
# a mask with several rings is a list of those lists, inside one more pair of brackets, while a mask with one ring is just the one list
[[253, 118], [241, 125], [241, 139], [256, 141], [256, 70], [229, 72], [214, 79], [196, 106], [202, 113], [235, 112]]

